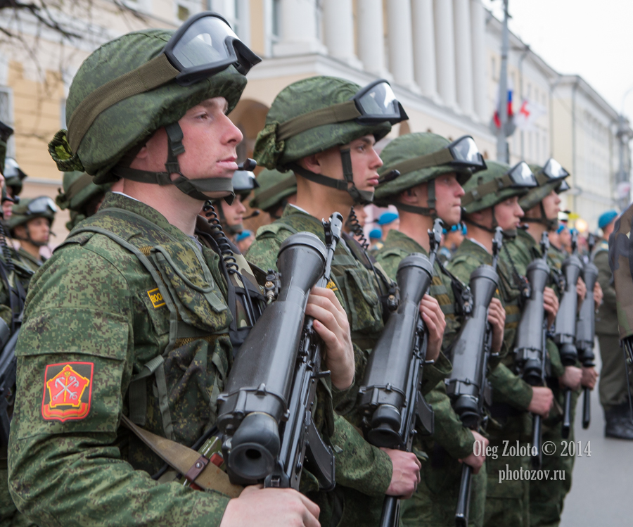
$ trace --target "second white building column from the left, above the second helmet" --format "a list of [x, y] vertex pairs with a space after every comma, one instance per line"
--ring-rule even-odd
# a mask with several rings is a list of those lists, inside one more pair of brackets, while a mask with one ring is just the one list
[[324, 0], [323, 15], [324, 40], [330, 56], [362, 69], [354, 53], [352, 0]]

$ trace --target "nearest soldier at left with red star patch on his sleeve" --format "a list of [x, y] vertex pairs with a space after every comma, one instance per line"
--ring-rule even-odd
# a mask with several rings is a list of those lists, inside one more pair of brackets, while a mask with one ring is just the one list
[[[259, 60], [224, 19], [200, 13], [177, 32], [104, 44], [70, 86], [69, 129], [49, 152], [60, 170], [124, 187], [44, 264], [25, 311], [9, 482], [41, 525], [318, 525], [319, 508], [294, 490], [250, 487], [231, 500], [160, 483], [170, 471], [123, 426], [183, 445], [216, 429], [237, 312], [198, 214], [230, 196], [242, 136], [226, 114]], [[354, 374], [347, 319], [325, 288], [306, 313], [343, 391]]]

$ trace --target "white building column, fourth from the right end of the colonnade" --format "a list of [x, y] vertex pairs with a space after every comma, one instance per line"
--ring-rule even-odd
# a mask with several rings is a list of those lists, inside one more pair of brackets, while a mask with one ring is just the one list
[[435, 27], [433, 24], [433, 0], [411, 2], [413, 20], [414, 70], [416, 82], [422, 94], [439, 103], [437, 75], [435, 72]]

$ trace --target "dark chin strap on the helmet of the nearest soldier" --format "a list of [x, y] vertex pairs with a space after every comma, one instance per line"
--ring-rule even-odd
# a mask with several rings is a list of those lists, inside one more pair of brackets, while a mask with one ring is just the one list
[[[235, 197], [233, 178], [205, 177], [202, 179], [188, 179], [185, 177], [178, 163], [178, 156], [185, 151], [182, 144], [184, 137], [182, 129], [178, 122], [172, 122], [171, 125], [165, 127], [165, 132], [167, 132], [166, 172], [151, 172], [149, 170], [139, 170], [117, 165], [113, 167], [112, 173], [117, 177], [131, 179], [139, 183], [150, 183], [160, 186], [174, 185], [179, 191], [186, 193], [187, 196], [191, 196], [200, 201], [207, 201], [207, 199], [209, 199], [209, 196], [206, 196], [205, 192], [228, 192], [230, 196], [226, 196], [224, 200], [229, 204], [233, 203], [233, 198]], [[172, 181], [172, 174], [179, 174], [179, 177]]]

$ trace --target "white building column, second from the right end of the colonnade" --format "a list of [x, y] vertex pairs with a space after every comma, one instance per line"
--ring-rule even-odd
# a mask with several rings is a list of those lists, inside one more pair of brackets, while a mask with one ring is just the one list
[[453, 0], [457, 103], [464, 115], [476, 119], [473, 102], [473, 51], [470, 0]]

